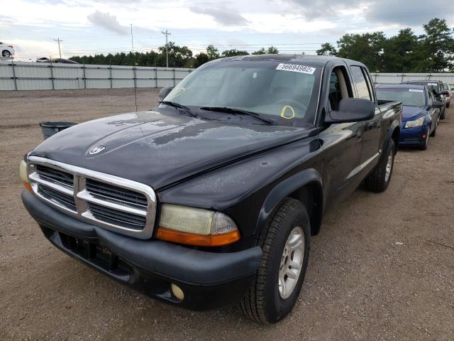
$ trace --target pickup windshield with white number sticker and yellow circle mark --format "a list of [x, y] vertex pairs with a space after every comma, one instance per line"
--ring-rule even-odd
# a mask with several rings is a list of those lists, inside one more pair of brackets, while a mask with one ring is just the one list
[[241, 109], [275, 124], [298, 126], [314, 123], [320, 73], [321, 67], [275, 61], [215, 62], [179, 82], [165, 101], [194, 112], [203, 107]]

